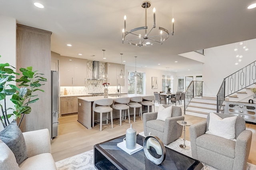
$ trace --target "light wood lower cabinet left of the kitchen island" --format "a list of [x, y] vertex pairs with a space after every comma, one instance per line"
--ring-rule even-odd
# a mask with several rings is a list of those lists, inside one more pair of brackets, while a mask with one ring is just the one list
[[78, 112], [77, 97], [60, 98], [60, 115]]

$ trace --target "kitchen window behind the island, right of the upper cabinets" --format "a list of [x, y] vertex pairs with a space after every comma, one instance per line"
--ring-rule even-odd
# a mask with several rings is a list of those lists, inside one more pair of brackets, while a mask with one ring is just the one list
[[144, 73], [137, 72], [137, 75], [134, 78], [134, 72], [128, 72], [128, 94], [144, 94]]

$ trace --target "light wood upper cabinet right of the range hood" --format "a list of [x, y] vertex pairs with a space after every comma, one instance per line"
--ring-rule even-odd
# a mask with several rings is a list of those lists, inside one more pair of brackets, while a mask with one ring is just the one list
[[[122, 64], [122, 70], [125, 75], [124, 64]], [[124, 79], [118, 79], [118, 74], [121, 72], [121, 64], [105, 63], [105, 72], [108, 74], [108, 82], [110, 83], [110, 86], [116, 86], [117, 84], [124, 86]]]

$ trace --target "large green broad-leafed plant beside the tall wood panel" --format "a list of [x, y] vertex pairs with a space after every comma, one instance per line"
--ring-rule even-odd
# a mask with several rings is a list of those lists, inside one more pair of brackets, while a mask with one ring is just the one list
[[[0, 55], [1, 57], [1, 55]], [[42, 77], [43, 74], [33, 71], [32, 67], [20, 68], [22, 72], [22, 77], [14, 80], [15, 75], [20, 75], [17, 72], [12, 70], [13, 66], [10, 66], [9, 63], [1, 64], [0, 63], [0, 101], [4, 100], [3, 105], [0, 104], [2, 115], [0, 116], [0, 121], [5, 128], [10, 124], [8, 118], [14, 115], [14, 120], [18, 117], [21, 118], [19, 125], [25, 114], [31, 112], [31, 107], [28, 104], [32, 104], [39, 100], [39, 98], [34, 99], [38, 96], [33, 95], [36, 91], [44, 92], [44, 90], [39, 89], [40, 86], [44, 85], [41, 82], [46, 82], [47, 79]], [[20, 83], [17, 87], [12, 84], [8, 84], [11, 81]], [[6, 96], [12, 96], [10, 101], [14, 103], [15, 108], [6, 108]], [[12, 110], [12, 113], [7, 113], [8, 110]], [[21, 117], [22, 116], [22, 117]]]

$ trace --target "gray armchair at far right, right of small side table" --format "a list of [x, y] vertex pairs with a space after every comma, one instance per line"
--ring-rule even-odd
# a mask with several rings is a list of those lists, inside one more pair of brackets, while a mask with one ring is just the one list
[[[222, 119], [232, 116], [223, 113], [215, 114]], [[245, 170], [251, 147], [252, 131], [245, 130], [244, 118], [237, 117], [236, 141], [231, 141], [205, 133], [209, 127], [209, 115], [206, 121], [190, 126], [192, 157], [219, 170]]]

